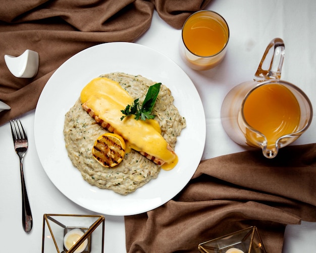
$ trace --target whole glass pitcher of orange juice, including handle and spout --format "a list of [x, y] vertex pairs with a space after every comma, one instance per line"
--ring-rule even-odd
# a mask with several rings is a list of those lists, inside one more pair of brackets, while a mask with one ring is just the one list
[[[240, 145], [262, 149], [267, 158], [296, 140], [309, 127], [312, 106], [306, 94], [281, 80], [284, 42], [273, 39], [252, 81], [238, 84], [226, 95], [221, 109], [223, 127]], [[269, 63], [268, 70], [262, 66]]]

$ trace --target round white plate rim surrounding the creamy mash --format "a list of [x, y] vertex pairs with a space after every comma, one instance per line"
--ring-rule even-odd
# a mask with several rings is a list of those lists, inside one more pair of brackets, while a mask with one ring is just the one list
[[[91, 186], [72, 165], [63, 136], [66, 112], [93, 78], [111, 72], [142, 75], [170, 88], [187, 127], [177, 140], [179, 163], [128, 195]], [[198, 92], [172, 60], [148, 47], [111, 42], [89, 47], [67, 60], [48, 80], [36, 107], [34, 135], [40, 162], [52, 183], [76, 204], [107, 215], [134, 215], [157, 208], [188, 183], [202, 157], [205, 115]]]

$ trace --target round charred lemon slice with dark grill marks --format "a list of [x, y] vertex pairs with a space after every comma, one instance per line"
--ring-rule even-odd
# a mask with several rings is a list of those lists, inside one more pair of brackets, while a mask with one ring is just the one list
[[114, 167], [122, 162], [125, 155], [125, 141], [115, 133], [100, 135], [92, 148], [93, 158], [104, 167]]

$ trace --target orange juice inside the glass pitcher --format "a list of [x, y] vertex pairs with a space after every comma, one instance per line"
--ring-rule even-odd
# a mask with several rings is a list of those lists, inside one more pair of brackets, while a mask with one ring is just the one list
[[[266, 136], [267, 146], [298, 128], [300, 108], [293, 93], [277, 83], [261, 85], [250, 92], [244, 102], [243, 115], [249, 126]], [[251, 134], [246, 130], [250, 143]]]

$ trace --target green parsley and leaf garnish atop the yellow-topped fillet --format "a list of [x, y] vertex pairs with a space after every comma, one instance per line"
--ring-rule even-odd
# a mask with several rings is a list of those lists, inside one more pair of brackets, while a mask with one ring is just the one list
[[127, 105], [125, 110], [121, 110], [121, 112], [125, 114], [125, 116], [121, 117], [121, 120], [123, 120], [126, 116], [132, 114], [135, 115], [135, 120], [139, 120], [139, 118], [143, 121], [145, 121], [146, 119], [153, 119], [155, 116], [152, 115], [151, 112], [156, 102], [160, 86], [161, 83], [156, 83], [148, 88], [144, 102], [141, 106], [139, 105], [139, 98], [136, 98], [133, 105]]

